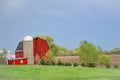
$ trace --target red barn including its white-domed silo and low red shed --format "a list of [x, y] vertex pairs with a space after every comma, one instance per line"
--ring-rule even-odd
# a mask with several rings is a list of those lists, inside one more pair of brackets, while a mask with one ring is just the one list
[[26, 36], [16, 48], [15, 59], [8, 60], [8, 64], [38, 64], [42, 58], [50, 60], [50, 47], [47, 41], [39, 36], [34, 38]]

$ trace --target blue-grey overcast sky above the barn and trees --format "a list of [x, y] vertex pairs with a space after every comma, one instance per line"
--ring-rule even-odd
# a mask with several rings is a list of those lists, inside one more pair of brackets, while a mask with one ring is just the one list
[[120, 0], [0, 0], [0, 49], [14, 52], [24, 36], [47, 34], [68, 49], [82, 40], [120, 47]]

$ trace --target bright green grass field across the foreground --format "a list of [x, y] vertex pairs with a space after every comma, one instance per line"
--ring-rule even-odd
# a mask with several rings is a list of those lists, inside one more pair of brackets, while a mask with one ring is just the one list
[[0, 80], [120, 80], [120, 69], [4, 65]]

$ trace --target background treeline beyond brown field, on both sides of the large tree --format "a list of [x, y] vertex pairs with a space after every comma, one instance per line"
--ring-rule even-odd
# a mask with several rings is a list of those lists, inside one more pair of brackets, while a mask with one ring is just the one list
[[[53, 37], [49, 35], [42, 37], [44, 37], [48, 41], [49, 46], [51, 47], [52, 56], [79, 56], [80, 54], [80, 46], [72, 50], [68, 50], [67, 48], [56, 44]], [[120, 48], [115, 48], [113, 50], [103, 51], [103, 52], [107, 55], [120, 54]]]

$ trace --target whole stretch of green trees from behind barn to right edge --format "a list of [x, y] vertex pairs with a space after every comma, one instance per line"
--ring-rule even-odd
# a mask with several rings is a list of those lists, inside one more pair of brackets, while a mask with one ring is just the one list
[[[88, 41], [81, 41], [78, 48], [71, 51], [54, 43], [54, 38], [49, 35], [44, 36], [51, 48], [51, 55], [54, 60], [56, 56], [79, 56], [80, 65], [85, 67], [96, 67], [97, 64], [110, 68], [112, 59], [110, 54], [119, 54], [120, 49], [115, 48], [111, 51], [103, 51], [100, 46], [96, 46]], [[108, 55], [109, 54], [109, 55]]]

